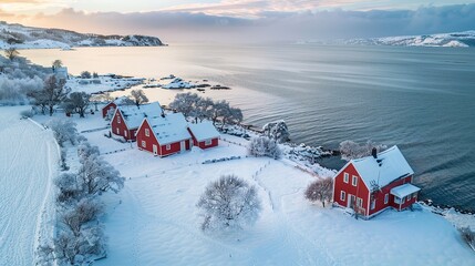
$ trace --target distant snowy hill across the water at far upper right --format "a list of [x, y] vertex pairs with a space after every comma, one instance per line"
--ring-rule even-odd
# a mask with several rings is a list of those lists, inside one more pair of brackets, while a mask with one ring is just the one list
[[396, 45], [396, 47], [475, 47], [475, 31], [428, 35], [385, 37], [345, 40], [345, 44]]

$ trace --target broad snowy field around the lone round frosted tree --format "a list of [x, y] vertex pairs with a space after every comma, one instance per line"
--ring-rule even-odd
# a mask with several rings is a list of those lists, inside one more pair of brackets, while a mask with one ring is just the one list
[[[73, 119], [80, 131], [105, 125], [97, 114]], [[316, 177], [286, 161], [245, 157], [246, 149], [234, 144], [246, 145], [242, 139], [224, 135], [233, 143], [159, 158], [104, 133], [83, 135], [126, 183], [105, 196], [110, 250], [96, 265], [475, 265], [473, 250], [444, 217], [421, 208], [357, 221], [343, 209], [310, 204], [303, 191]], [[244, 158], [202, 164], [230, 156]], [[242, 232], [203, 233], [196, 203], [223, 174], [258, 188], [261, 216]]]

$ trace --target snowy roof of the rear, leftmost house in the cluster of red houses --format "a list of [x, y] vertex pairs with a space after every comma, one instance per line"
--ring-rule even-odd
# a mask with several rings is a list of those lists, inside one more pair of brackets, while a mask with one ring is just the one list
[[138, 108], [136, 105], [123, 105], [118, 106], [117, 110], [121, 111], [130, 130], [138, 127], [145, 117], [153, 119], [162, 114], [162, 108], [158, 102], [143, 104]]

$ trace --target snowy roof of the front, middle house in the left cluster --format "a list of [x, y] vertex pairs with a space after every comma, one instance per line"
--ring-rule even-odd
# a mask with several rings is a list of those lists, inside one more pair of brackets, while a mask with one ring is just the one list
[[187, 130], [187, 122], [182, 113], [169, 113], [165, 117], [147, 117], [161, 145], [192, 139]]

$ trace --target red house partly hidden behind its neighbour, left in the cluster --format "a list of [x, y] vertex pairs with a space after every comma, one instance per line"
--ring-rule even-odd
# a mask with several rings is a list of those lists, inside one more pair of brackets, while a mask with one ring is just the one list
[[142, 121], [145, 117], [158, 117], [161, 115], [162, 108], [158, 102], [140, 106], [117, 106], [111, 120], [111, 132], [116, 136], [124, 137], [126, 141], [135, 141], [135, 132]]

